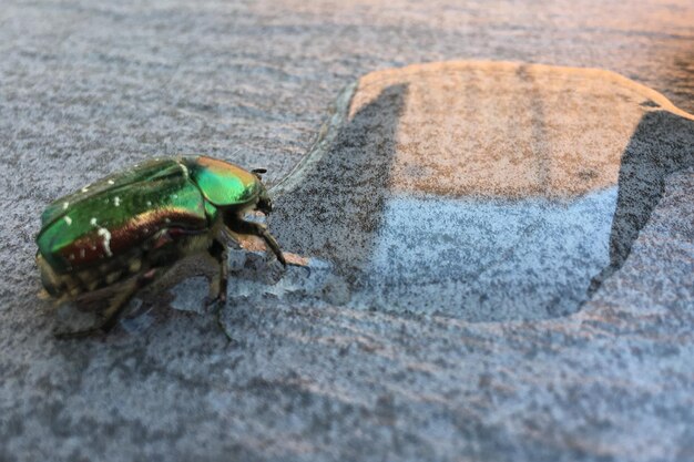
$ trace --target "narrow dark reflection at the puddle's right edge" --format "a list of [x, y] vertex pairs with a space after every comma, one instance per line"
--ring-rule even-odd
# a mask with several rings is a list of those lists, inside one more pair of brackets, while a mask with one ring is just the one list
[[694, 121], [669, 111], [646, 113], [622, 154], [609, 242], [610, 265], [592, 279], [589, 296], [624, 265], [665, 193], [666, 177], [690, 167], [694, 167]]

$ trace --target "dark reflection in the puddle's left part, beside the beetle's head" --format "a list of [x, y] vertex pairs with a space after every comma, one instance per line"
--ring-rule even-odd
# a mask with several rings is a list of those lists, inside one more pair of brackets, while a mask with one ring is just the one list
[[354, 285], [376, 245], [407, 85], [387, 86], [344, 124], [328, 152], [277, 197], [273, 232], [283, 248], [330, 260]]

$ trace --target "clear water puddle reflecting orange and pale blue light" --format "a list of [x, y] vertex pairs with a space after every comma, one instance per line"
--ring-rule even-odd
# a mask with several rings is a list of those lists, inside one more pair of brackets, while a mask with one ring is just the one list
[[606, 71], [449, 62], [367, 74], [274, 188], [273, 233], [323, 266], [269, 291], [306, 299], [331, 271], [357, 309], [570, 315], [623, 265], [692, 146], [691, 115]]

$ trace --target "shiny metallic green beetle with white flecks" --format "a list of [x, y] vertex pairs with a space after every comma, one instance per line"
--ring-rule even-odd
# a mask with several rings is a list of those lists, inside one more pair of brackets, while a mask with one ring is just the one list
[[263, 173], [207, 156], [161, 158], [51, 203], [37, 236], [45, 291], [62, 301], [118, 287], [101, 324], [57, 337], [108, 332], [139, 290], [193, 255], [204, 254], [218, 266], [211, 301], [224, 302], [227, 244], [234, 235], [261, 237], [286, 266], [267, 228], [244, 218], [254, 211], [272, 212]]

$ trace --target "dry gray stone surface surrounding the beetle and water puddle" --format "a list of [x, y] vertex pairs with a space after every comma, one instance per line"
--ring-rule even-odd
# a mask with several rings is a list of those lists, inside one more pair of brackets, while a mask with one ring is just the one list
[[[276, 183], [372, 70], [603, 68], [694, 111], [690, 2], [603, 3], [4, 2], [0, 460], [694, 460], [692, 125], [649, 103], [619, 163], [610, 264], [571, 314], [370, 310], [350, 305], [335, 249], [286, 274], [234, 253], [233, 343], [191, 306], [200, 279], [83, 341], [54, 340], [60, 319], [35, 297], [52, 197], [180, 152], [265, 165]], [[395, 96], [374, 116], [392, 121]], [[310, 223], [279, 211], [271, 226], [305, 250], [292, 219]]]

